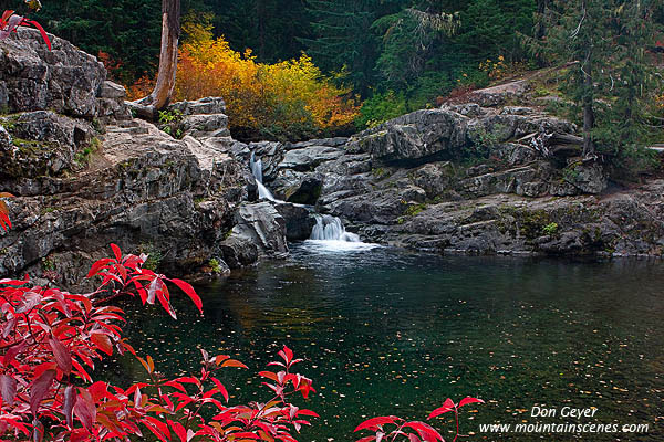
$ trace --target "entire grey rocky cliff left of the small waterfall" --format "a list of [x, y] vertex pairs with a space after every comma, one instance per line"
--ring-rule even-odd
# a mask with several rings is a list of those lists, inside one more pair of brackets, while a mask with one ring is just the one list
[[228, 155], [221, 98], [178, 103], [185, 136], [175, 139], [132, 118], [95, 57], [52, 42], [51, 52], [20, 30], [0, 43], [0, 188], [17, 197], [13, 229], [0, 231], [0, 275], [73, 284], [111, 242], [175, 274], [288, 251], [283, 218], [245, 203], [256, 185]]

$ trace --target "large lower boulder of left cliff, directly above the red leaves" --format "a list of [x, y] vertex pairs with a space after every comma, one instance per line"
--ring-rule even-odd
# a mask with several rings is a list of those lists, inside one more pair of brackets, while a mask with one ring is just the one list
[[[163, 256], [159, 270], [178, 275], [212, 256], [226, 260], [221, 244], [237, 245], [225, 239], [236, 222], [235, 207], [248, 194], [246, 168], [218, 147], [134, 124], [110, 126], [85, 171], [4, 181], [17, 198], [10, 203], [14, 229], [0, 235], [7, 252], [0, 275], [35, 270], [60, 251], [101, 257], [110, 242], [129, 253], [151, 245]], [[250, 249], [241, 246], [238, 262], [258, 259]], [[85, 272], [86, 266], [68, 267], [63, 284], [82, 281]]]

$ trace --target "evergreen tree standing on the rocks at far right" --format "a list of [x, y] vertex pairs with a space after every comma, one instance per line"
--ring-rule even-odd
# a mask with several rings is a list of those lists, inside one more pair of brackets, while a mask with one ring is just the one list
[[647, 60], [654, 1], [552, 1], [541, 46], [552, 61], [575, 62], [563, 92], [583, 120], [583, 157], [634, 154], [643, 143], [645, 102], [661, 77]]

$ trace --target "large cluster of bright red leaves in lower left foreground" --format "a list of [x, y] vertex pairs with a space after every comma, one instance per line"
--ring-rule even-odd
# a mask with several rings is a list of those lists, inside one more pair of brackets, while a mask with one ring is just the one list
[[[4, 213], [0, 206], [0, 213]], [[89, 277], [101, 281], [93, 293], [72, 294], [33, 286], [23, 280], [0, 280], [0, 439], [40, 442], [127, 440], [152, 434], [159, 441], [295, 441], [313, 411], [295, 407], [294, 393], [307, 398], [311, 380], [292, 371], [288, 348], [279, 352], [279, 372], [270, 380], [271, 399], [230, 406], [217, 372], [247, 368], [226, 355], [203, 350], [200, 373], [166, 379], [152, 357], [138, 357], [123, 337], [124, 312], [107, 304], [115, 296], [159, 303], [175, 317], [168, 284], [178, 287], [203, 312], [191, 285], [143, 269], [147, 256], [124, 255], [93, 264]], [[133, 354], [147, 371], [145, 382], [128, 388], [95, 381], [95, 366], [115, 351]], [[267, 382], [266, 382], [267, 383]], [[214, 415], [206, 420], [204, 415]]]

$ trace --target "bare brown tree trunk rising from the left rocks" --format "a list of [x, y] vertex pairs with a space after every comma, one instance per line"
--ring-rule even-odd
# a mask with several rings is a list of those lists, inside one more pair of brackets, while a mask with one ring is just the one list
[[155, 90], [132, 106], [138, 116], [155, 118], [157, 110], [168, 106], [175, 90], [177, 43], [180, 34], [180, 0], [162, 0], [162, 52]]

